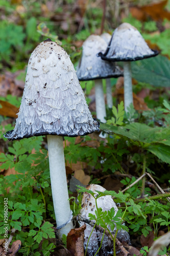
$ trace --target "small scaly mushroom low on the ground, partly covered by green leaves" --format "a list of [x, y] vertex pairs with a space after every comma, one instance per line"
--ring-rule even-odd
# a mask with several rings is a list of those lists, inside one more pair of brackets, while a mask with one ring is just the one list
[[[96, 185], [96, 184], [90, 184], [88, 186], [86, 186], [87, 189], [93, 191], [94, 193], [96, 193], [96, 195], [98, 195], [97, 191], [101, 191], [104, 192], [106, 189], [103, 188], [100, 185]], [[98, 208], [102, 208], [103, 211], [108, 211], [111, 208], [114, 208], [115, 210], [115, 215], [118, 211], [116, 204], [114, 203], [113, 199], [111, 196], [104, 196], [104, 197], [100, 197], [97, 199], [97, 204], [98, 204]], [[83, 198], [82, 198], [82, 209], [80, 211], [81, 217], [83, 219], [89, 219], [88, 215], [89, 214], [93, 214], [95, 215], [95, 210], [96, 210], [96, 205], [95, 205], [95, 199], [88, 193], [83, 193]], [[95, 222], [95, 221], [93, 221]], [[80, 226], [84, 225], [85, 223], [80, 221]], [[109, 230], [113, 233], [115, 233], [116, 231], [116, 226], [114, 227], [113, 230], [110, 229], [110, 226], [108, 226]], [[87, 245], [87, 241], [88, 238], [90, 236], [90, 233], [92, 231], [92, 227], [86, 223], [86, 229], [84, 230], [84, 247], [86, 248]], [[96, 251], [98, 251], [99, 249], [99, 244], [102, 240], [103, 237], [103, 233], [101, 233], [99, 230], [94, 229], [91, 237], [89, 239], [88, 242], [88, 248], [87, 248], [87, 252], [89, 256], [93, 256]], [[129, 239], [129, 234], [127, 231], [119, 230], [119, 232], [117, 233], [117, 238], [120, 238], [121, 241], [125, 241], [127, 243], [130, 243], [130, 239]], [[106, 235], [104, 235], [104, 239], [102, 241], [102, 253], [105, 256], [108, 256], [111, 254], [111, 252], [109, 251], [109, 249], [113, 250], [113, 248], [111, 247], [111, 244], [109, 244], [110, 241], [108, 240], [108, 237]], [[112, 252], [113, 254], [113, 252]], [[99, 253], [97, 254], [99, 255]]]

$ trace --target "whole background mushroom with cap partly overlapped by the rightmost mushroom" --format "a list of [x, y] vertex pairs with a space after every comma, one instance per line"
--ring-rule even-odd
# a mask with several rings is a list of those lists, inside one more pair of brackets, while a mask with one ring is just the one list
[[98, 58], [99, 51], [105, 52], [106, 41], [99, 35], [90, 35], [83, 43], [82, 58], [77, 67], [80, 81], [95, 80], [95, 106], [97, 118], [106, 122], [106, 107], [102, 79], [122, 76], [115, 64]]

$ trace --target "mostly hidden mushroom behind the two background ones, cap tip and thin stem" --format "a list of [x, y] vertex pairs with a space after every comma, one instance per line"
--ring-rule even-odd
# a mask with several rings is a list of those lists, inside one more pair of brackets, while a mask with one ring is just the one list
[[[103, 33], [101, 37], [109, 44], [111, 35], [109, 33]], [[112, 87], [110, 78], [106, 78], [106, 98], [107, 98], [107, 105], [109, 109], [112, 109], [113, 106], [113, 99], [112, 99]]]

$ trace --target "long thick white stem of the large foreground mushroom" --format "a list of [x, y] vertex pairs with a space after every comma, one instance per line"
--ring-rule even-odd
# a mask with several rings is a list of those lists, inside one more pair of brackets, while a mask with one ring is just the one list
[[[70, 206], [64, 161], [63, 139], [61, 136], [47, 135], [50, 178], [57, 227], [69, 220]], [[59, 238], [73, 228], [72, 221], [59, 229]]]

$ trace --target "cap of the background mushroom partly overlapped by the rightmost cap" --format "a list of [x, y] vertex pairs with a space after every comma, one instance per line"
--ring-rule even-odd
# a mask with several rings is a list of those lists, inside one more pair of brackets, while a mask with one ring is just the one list
[[123, 76], [115, 64], [97, 56], [107, 49], [107, 42], [99, 35], [90, 35], [83, 43], [83, 53], [77, 67], [80, 81]]

